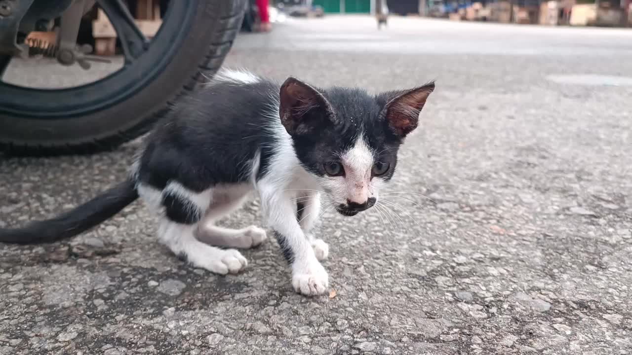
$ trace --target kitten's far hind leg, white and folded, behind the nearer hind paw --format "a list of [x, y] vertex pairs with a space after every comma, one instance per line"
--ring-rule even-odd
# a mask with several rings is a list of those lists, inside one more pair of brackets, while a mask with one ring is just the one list
[[217, 220], [241, 207], [249, 191], [214, 191], [213, 202], [196, 232], [197, 238], [210, 245], [249, 249], [263, 243], [265, 230], [257, 226], [229, 229], [216, 226]]

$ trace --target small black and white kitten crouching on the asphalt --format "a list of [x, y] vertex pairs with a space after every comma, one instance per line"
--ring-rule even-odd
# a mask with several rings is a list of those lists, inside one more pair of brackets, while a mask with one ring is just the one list
[[216, 246], [250, 248], [264, 241], [265, 231], [215, 222], [256, 192], [291, 263], [292, 285], [302, 294], [322, 294], [328, 276], [319, 260], [329, 247], [310, 233], [321, 196], [347, 216], [372, 207], [432, 90], [434, 83], [372, 96], [295, 78], [279, 88], [245, 71], [222, 70], [155, 126], [128, 181], [54, 219], [0, 229], [0, 241], [68, 238], [140, 195], [159, 216], [158, 238], [173, 253], [217, 274], [236, 273], [246, 259]]

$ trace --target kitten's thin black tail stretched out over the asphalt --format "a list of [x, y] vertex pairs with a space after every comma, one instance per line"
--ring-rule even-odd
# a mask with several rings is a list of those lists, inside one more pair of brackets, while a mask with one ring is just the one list
[[0, 242], [39, 244], [70, 238], [118, 214], [137, 198], [135, 183], [127, 180], [53, 219], [37, 220], [16, 229], [0, 228]]

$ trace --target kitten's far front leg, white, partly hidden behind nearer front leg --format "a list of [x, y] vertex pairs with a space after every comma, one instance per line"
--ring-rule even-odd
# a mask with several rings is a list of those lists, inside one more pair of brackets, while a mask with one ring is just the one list
[[329, 256], [329, 245], [324, 240], [315, 238], [310, 232], [320, 217], [320, 193], [308, 191], [300, 197], [296, 203], [296, 219], [301, 229], [305, 232], [305, 238], [312, 244], [312, 248], [318, 260], [325, 260]]

